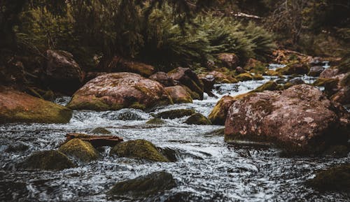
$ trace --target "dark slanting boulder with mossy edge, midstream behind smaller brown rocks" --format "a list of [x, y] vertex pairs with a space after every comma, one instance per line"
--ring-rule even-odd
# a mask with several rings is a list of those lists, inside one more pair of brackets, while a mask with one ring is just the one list
[[168, 75], [181, 85], [186, 85], [191, 91], [199, 94], [200, 99], [203, 99], [203, 83], [200, 81], [197, 74], [190, 68], [178, 67], [169, 71]]

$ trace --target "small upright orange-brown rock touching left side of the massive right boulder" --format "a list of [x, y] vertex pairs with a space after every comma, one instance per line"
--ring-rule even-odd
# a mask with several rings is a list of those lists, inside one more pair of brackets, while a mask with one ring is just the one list
[[228, 115], [228, 109], [236, 100], [232, 96], [223, 96], [209, 114], [209, 120], [213, 124], [224, 125], [226, 116]]

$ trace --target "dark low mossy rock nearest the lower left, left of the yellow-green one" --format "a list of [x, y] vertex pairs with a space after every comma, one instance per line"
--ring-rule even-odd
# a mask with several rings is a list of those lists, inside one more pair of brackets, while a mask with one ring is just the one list
[[59, 171], [75, 167], [65, 154], [57, 150], [34, 152], [20, 166], [26, 169], [48, 171]]

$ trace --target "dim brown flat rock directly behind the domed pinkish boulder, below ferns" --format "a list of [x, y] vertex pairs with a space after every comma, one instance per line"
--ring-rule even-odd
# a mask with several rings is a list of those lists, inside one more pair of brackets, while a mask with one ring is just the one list
[[143, 76], [150, 76], [155, 73], [155, 68], [151, 65], [141, 62], [134, 62], [122, 57], [113, 57], [112, 62], [108, 66], [109, 72], [132, 72]]

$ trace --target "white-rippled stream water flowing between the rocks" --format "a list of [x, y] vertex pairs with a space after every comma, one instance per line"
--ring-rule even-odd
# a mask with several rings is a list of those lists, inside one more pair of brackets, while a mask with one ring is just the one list
[[[214, 87], [220, 99], [225, 94], [242, 94], [267, 82], [223, 84]], [[276, 78], [274, 78], [276, 79]], [[314, 78], [304, 78], [311, 82]], [[314, 171], [349, 162], [350, 157], [279, 157], [279, 150], [252, 145], [230, 145], [215, 133], [221, 126], [183, 124], [186, 117], [166, 120], [162, 126], [146, 125], [151, 113], [175, 108], [194, 108], [209, 115], [218, 99], [141, 110], [92, 112], [75, 111], [69, 124], [0, 125], [0, 201], [132, 201], [111, 199], [106, 192], [121, 180], [154, 171], [167, 171], [178, 186], [142, 201], [349, 201], [350, 196], [335, 192], [317, 192], [304, 185]], [[57, 99], [66, 104], [69, 97]], [[119, 120], [125, 112], [134, 120]], [[69, 132], [88, 133], [105, 127], [125, 140], [150, 140], [158, 147], [176, 151], [176, 162], [153, 163], [136, 159], [109, 157], [111, 148], [90, 164], [64, 171], [24, 171], [15, 163], [34, 151], [52, 150]]]

